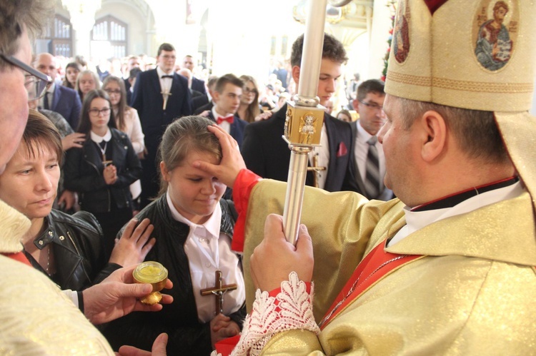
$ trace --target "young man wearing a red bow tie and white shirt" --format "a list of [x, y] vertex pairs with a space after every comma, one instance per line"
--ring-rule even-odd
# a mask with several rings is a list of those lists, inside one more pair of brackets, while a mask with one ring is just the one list
[[244, 128], [247, 126], [247, 121], [237, 115], [242, 86], [244, 83], [234, 74], [219, 77], [214, 90], [214, 106], [208, 113], [209, 118], [237, 140], [238, 146], [242, 146]]

